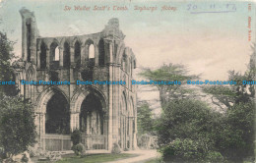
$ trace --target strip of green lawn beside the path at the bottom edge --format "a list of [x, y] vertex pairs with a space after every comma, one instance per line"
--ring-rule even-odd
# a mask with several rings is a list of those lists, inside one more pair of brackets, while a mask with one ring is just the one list
[[85, 157], [79, 157], [79, 156], [70, 156], [70, 157], [64, 157], [61, 160], [57, 161], [57, 163], [101, 163], [101, 162], [107, 162], [107, 161], [115, 161], [120, 159], [125, 159], [129, 157], [135, 157], [138, 156], [136, 154], [127, 154], [127, 153], [121, 153], [121, 154], [92, 154], [87, 155]]

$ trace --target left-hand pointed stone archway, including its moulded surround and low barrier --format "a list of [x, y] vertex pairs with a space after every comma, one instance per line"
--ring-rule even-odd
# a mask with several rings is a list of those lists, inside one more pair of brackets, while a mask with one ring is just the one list
[[70, 110], [66, 95], [57, 87], [49, 87], [41, 92], [36, 106], [39, 146], [43, 150], [70, 150]]

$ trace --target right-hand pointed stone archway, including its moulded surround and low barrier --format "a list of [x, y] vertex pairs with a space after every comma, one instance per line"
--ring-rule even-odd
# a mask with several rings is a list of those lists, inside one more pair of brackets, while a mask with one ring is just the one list
[[83, 133], [88, 150], [107, 149], [108, 119], [104, 95], [94, 87], [79, 89], [71, 102], [71, 130]]

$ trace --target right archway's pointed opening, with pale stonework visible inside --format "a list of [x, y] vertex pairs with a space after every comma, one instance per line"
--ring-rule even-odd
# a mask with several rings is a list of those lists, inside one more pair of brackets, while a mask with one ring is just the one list
[[103, 135], [102, 106], [94, 94], [89, 94], [81, 105], [80, 130], [86, 135]]

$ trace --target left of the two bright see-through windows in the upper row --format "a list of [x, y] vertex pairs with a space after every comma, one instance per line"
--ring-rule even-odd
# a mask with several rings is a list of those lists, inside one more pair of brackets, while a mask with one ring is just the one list
[[50, 45], [50, 68], [59, 68], [59, 46], [56, 42]]

